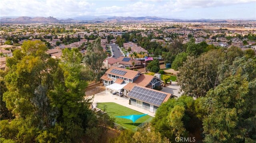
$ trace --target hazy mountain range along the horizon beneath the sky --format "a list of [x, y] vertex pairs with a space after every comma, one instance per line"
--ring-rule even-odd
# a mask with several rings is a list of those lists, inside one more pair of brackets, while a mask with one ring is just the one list
[[123, 17], [123, 16], [78, 16], [74, 18], [54, 18], [54, 17], [2, 17], [0, 23], [15, 23], [15, 24], [28, 24], [28, 23], [77, 23], [77, 22], [250, 22], [252, 20], [182, 20], [177, 18], [159, 18], [156, 16], [145, 17]]

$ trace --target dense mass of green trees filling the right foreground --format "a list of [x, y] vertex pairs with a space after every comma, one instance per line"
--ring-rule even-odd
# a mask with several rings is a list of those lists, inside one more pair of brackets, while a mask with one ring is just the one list
[[[178, 57], [182, 58], [183, 54]], [[243, 52], [238, 47], [230, 47], [189, 55], [180, 67], [177, 80], [182, 96], [163, 103], [148, 130], [171, 142], [176, 142], [177, 137], [194, 137], [196, 142], [205, 143], [256, 141], [256, 57], [253, 50]], [[122, 132], [115, 141], [121, 137], [125, 142], [134, 141], [128, 131]]]

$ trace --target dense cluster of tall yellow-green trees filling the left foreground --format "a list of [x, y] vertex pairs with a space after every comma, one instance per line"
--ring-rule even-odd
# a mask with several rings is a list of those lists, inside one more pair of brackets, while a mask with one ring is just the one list
[[60, 62], [46, 50], [42, 41], [26, 41], [1, 71], [1, 142], [99, 142], [113, 119], [89, 109], [82, 54], [65, 49]]

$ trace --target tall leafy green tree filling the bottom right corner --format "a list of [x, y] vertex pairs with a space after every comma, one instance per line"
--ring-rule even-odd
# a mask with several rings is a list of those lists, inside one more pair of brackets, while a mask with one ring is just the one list
[[256, 79], [248, 82], [238, 74], [207, 93], [207, 116], [203, 119], [206, 142], [256, 140], [255, 91]]

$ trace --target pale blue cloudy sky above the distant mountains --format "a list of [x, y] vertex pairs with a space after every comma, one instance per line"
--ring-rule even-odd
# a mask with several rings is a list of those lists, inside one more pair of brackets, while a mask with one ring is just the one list
[[1, 0], [0, 16], [256, 20], [256, 0]]

